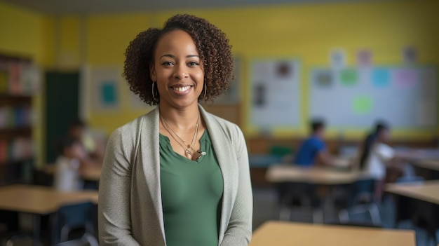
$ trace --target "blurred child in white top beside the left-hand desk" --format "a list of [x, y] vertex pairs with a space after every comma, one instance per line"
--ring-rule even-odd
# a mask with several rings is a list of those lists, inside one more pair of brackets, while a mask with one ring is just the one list
[[82, 159], [81, 144], [72, 137], [64, 137], [58, 146], [59, 156], [55, 162], [53, 186], [62, 191], [77, 191], [83, 188], [80, 177]]

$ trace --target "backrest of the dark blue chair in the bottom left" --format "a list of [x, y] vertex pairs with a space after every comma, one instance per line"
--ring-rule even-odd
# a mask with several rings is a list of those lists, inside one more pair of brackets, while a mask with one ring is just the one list
[[63, 205], [55, 214], [53, 242], [69, 240], [69, 233], [76, 229], [93, 235], [93, 208], [91, 202]]

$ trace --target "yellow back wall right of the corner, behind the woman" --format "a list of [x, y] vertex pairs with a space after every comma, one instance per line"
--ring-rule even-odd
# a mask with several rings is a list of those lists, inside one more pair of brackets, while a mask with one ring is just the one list
[[[252, 57], [299, 57], [303, 65], [301, 93], [307, 95], [309, 69], [328, 65], [332, 48], [344, 48], [349, 64], [354, 64], [359, 49], [368, 48], [372, 50], [374, 64], [397, 65], [402, 62], [403, 47], [414, 46], [420, 63], [439, 64], [439, 16], [435, 9], [439, 9], [438, 1], [386, 1], [93, 15], [88, 20], [88, 64], [122, 64], [123, 50], [136, 33], [147, 27], [161, 27], [175, 13], [191, 13], [207, 18], [228, 34], [234, 53], [244, 60], [243, 67]], [[246, 79], [244, 69], [244, 83]], [[247, 97], [246, 93], [243, 91], [243, 97]], [[243, 111], [247, 107], [243, 105]], [[308, 107], [308, 99], [302, 97], [302, 127], [277, 134], [306, 135]], [[138, 111], [125, 109], [128, 108], [123, 107], [116, 115], [94, 112], [90, 114], [90, 121], [111, 130], [139, 115]], [[242, 120], [245, 122], [245, 114]], [[345, 137], [362, 137], [364, 131], [346, 130]], [[394, 136], [400, 138], [430, 139], [431, 135], [429, 130], [396, 129], [394, 132]], [[330, 130], [329, 137], [336, 136], [337, 130]]]

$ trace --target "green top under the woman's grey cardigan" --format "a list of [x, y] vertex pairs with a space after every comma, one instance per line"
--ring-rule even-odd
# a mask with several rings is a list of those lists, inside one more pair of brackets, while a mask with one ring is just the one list
[[161, 198], [168, 246], [218, 245], [222, 172], [207, 130], [200, 144], [206, 155], [189, 160], [175, 153], [168, 137], [160, 135]]

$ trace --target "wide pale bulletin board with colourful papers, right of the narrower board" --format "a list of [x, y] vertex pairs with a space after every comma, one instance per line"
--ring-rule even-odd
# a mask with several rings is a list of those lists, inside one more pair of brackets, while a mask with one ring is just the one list
[[435, 129], [435, 67], [315, 68], [309, 114], [331, 127], [370, 127], [384, 120], [397, 128]]

